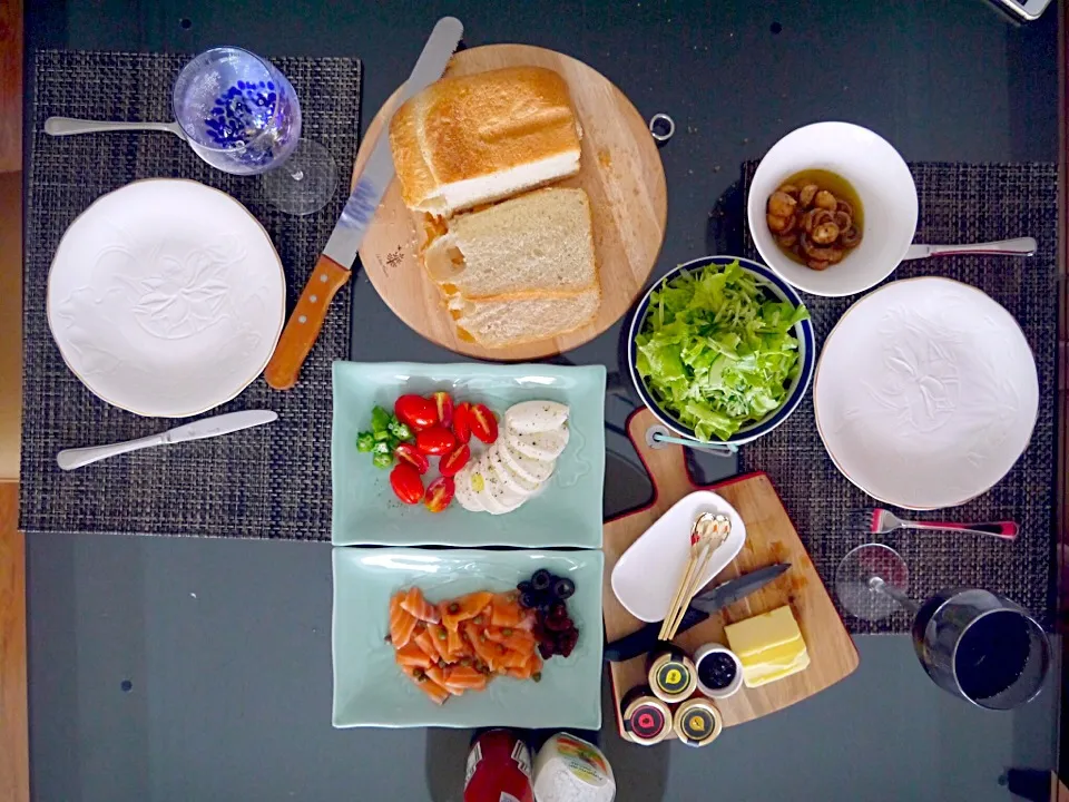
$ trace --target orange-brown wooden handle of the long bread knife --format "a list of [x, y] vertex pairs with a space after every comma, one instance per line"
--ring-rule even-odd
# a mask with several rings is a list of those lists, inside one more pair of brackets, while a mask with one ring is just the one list
[[282, 330], [275, 353], [264, 370], [264, 379], [275, 390], [288, 390], [297, 383], [301, 365], [323, 330], [331, 301], [353, 274], [330, 256], [321, 255], [290, 322]]

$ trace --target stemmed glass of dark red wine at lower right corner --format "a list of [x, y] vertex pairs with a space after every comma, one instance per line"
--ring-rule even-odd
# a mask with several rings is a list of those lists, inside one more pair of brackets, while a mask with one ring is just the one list
[[918, 605], [906, 594], [909, 569], [882, 544], [850, 551], [835, 571], [835, 591], [851, 615], [882, 620], [913, 614], [913, 648], [944, 691], [987, 710], [1033, 700], [1050, 669], [1043, 628], [1013, 602], [977, 588], [950, 588]]

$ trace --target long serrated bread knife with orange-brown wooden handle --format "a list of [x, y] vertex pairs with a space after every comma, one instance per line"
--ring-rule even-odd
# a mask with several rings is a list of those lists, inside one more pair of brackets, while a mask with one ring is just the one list
[[[463, 32], [464, 27], [454, 17], [443, 17], [438, 21], [412, 75], [399, 92], [398, 107], [442, 77]], [[297, 383], [301, 365], [323, 329], [331, 301], [352, 275], [356, 252], [392, 179], [390, 135], [384, 130], [345, 202], [342, 216], [334, 225], [331, 238], [315, 263], [312, 276], [278, 339], [275, 353], [264, 370], [264, 379], [276, 390], [288, 390]]]

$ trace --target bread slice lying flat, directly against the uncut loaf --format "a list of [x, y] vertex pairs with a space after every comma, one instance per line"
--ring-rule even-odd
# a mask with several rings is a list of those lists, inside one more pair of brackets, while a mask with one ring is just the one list
[[[438, 232], [441, 232], [438, 228]], [[423, 264], [447, 295], [572, 293], [598, 281], [590, 200], [550, 187], [445, 221]]]

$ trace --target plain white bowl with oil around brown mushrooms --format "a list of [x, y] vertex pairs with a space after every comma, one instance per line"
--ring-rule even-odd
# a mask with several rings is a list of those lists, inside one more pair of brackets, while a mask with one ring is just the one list
[[[769, 197], [800, 176], [827, 183], [821, 188], [857, 206], [860, 243], [836, 253], [837, 263], [806, 260], [822, 270], [781, 246], [787, 238], [769, 228]], [[765, 264], [798, 290], [826, 296], [864, 292], [891, 275], [913, 242], [916, 214], [916, 186], [898, 150], [880, 135], [850, 123], [816, 123], [787, 134], [757, 166], [747, 203], [749, 231]], [[801, 223], [793, 232], [812, 239], [812, 231], [806, 233]], [[812, 244], [811, 253], [825, 252]]]

